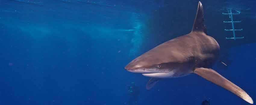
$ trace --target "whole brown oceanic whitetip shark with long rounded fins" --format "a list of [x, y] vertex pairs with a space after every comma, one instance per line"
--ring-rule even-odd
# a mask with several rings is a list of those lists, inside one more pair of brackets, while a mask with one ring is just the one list
[[135, 58], [125, 69], [151, 77], [146, 88], [150, 89], [160, 78], [175, 78], [195, 73], [233, 92], [250, 104], [252, 98], [241, 88], [211, 69], [219, 57], [220, 46], [207, 35], [204, 11], [199, 1], [192, 31], [156, 46]]

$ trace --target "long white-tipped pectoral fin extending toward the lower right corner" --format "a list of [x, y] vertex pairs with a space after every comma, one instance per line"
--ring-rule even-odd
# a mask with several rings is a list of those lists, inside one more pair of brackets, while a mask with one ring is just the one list
[[244, 90], [242, 90], [237, 85], [235, 85], [234, 83], [230, 82], [229, 80], [227, 80], [226, 78], [221, 76], [216, 71], [214, 71], [210, 68], [196, 68], [194, 70], [194, 73], [207, 79], [208, 81], [211, 81], [223, 88], [226, 88], [227, 90], [236, 94], [237, 96], [244, 99], [248, 103], [253, 104], [253, 100]]

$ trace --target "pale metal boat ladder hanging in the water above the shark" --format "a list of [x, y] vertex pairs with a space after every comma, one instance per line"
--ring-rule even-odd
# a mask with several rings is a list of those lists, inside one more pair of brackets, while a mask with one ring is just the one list
[[228, 10], [228, 13], [222, 13], [222, 14], [224, 14], [224, 15], [229, 15], [229, 18], [231, 19], [231, 21], [223, 21], [224, 23], [229, 23], [229, 22], [231, 22], [231, 24], [232, 24], [232, 29], [225, 29], [225, 31], [232, 31], [233, 32], [233, 38], [226, 38], [226, 39], [234, 39], [235, 41], [236, 41], [236, 39], [242, 39], [242, 38], [244, 38], [244, 37], [236, 37], [236, 34], [235, 34], [235, 31], [242, 31], [243, 29], [235, 29], [234, 28], [234, 22], [241, 22], [241, 20], [240, 21], [234, 21], [233, 20], [233, 14], [240, 14], [240, 12], [239, 11], [236, 11], [237, 13], [232, 13], [232, 9], [229, 9]]

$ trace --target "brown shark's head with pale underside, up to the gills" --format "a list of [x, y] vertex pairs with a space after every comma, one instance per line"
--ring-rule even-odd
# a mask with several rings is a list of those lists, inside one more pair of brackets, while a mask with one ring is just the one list
[[[191, 60], [182, 54], [175, 54], [175, 51], [163, 52], [163, 50], [169, 49], [165, 44], [167, 43], [161, 44], [135, 58], [126, 65], [125, 69], [154, 78], [173, 78], [192, 73]], [[177, 55], [180, 56], [177, 58]], [[187, 60], [180, 60], [183, 58]]]

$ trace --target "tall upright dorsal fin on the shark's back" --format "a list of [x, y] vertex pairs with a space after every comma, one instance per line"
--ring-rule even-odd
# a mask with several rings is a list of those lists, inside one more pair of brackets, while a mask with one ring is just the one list
[[198, 3], [198, 8], [195, 16], [195, 21], [194, 25], [192, 28], [192, 32], [204, 32], [207, 35], [207, 30], [204, 25], [204, 10], [203, 10], [203, 5], [199, 1]]

